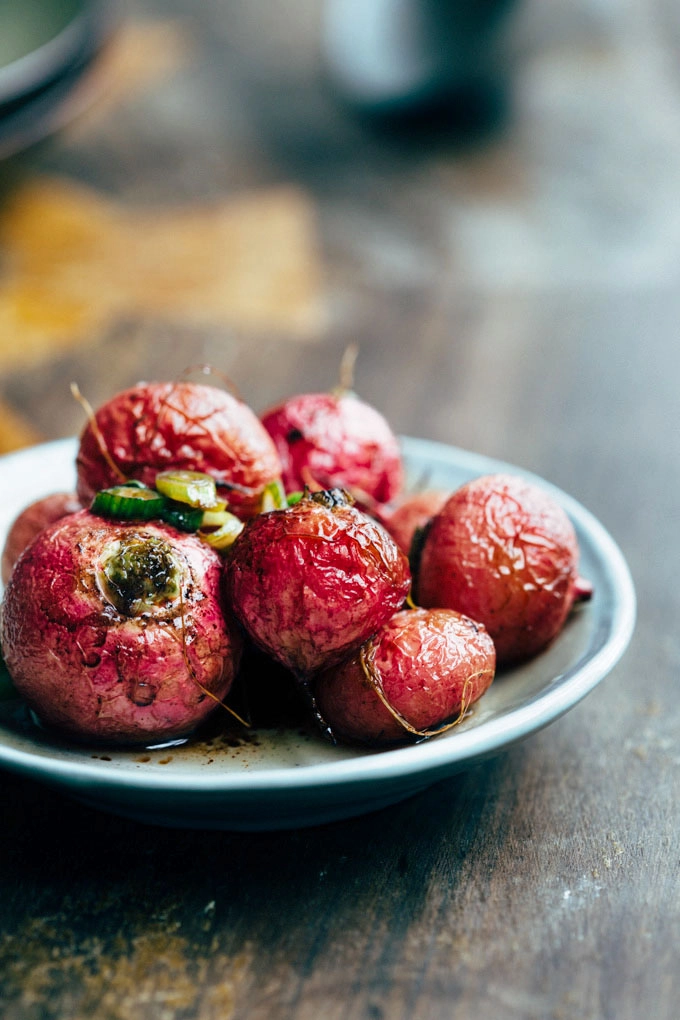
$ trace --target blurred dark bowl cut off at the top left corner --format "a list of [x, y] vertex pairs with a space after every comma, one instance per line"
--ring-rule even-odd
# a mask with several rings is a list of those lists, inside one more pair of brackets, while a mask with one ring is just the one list
[[88, 102], [88, 71], [113, 23], [113, 0], [2, 0], [0, 159], [50, 135]]

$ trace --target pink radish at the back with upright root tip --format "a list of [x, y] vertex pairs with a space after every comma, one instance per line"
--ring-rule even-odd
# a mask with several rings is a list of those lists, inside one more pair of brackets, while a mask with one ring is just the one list
[[399, 443], [384, 417], [354, 394], [292, 397], [262, 422], [274, 441], [287, 492], [315, 483], [347, 489], [358, 503], [395, 499], [403, 483]]

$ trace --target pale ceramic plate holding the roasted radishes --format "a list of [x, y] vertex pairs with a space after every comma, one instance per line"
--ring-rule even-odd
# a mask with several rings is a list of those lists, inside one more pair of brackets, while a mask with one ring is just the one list
[[[478, 474], [517, 470], [423, 440], [405, 439], [403, 447], [411, 477], [426, 476], [428, 488], [453, 491]], [[0, 491], [6, 494], [0, 544], [23, 506], [73, 486], [74, 452], [74, 442], [65, 440], [0, 459]], [[572, 614], [547, 652], [499, 675], [455, 729], [381, 752], [332, 747], [298, 730], [264, 731], [239, 747], [215, 740], [195, 748], [103, 751], [53, 738], [31, 723], [20, 702], [8, 700], [0, 702], [0, 766], [145, 822], [275, 829], [394, 804], [528, 736], [576, 705], [610, 672], [635, 619], [630, 573], [613, 539], [575, 500], [542, 484], [574, 522], [581, 573], [593, 582], [594, 597]]]

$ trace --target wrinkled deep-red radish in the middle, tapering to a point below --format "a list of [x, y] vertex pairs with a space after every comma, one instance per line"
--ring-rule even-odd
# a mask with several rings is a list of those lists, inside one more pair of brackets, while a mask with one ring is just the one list
[[384, 528], [337, 491], [250, 521], [225, 574], [253, 641], [301, 677], [361, 645], [403, 605], [410, 582]]

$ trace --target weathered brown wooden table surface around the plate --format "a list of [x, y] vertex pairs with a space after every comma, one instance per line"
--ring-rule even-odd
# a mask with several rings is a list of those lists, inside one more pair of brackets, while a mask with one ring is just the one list
[[401, 805], [166, 830], [3, 774], [3, 1020], [671, 1020], [680, 947], [680, 16], [526, 0], [495, 130], [378, 132], [312, 0], [135, 2], [101, 94], [3, 175], [0, 443], [210, 363], [335, 381], [611, 530], [632, 644], [573, 711]]

